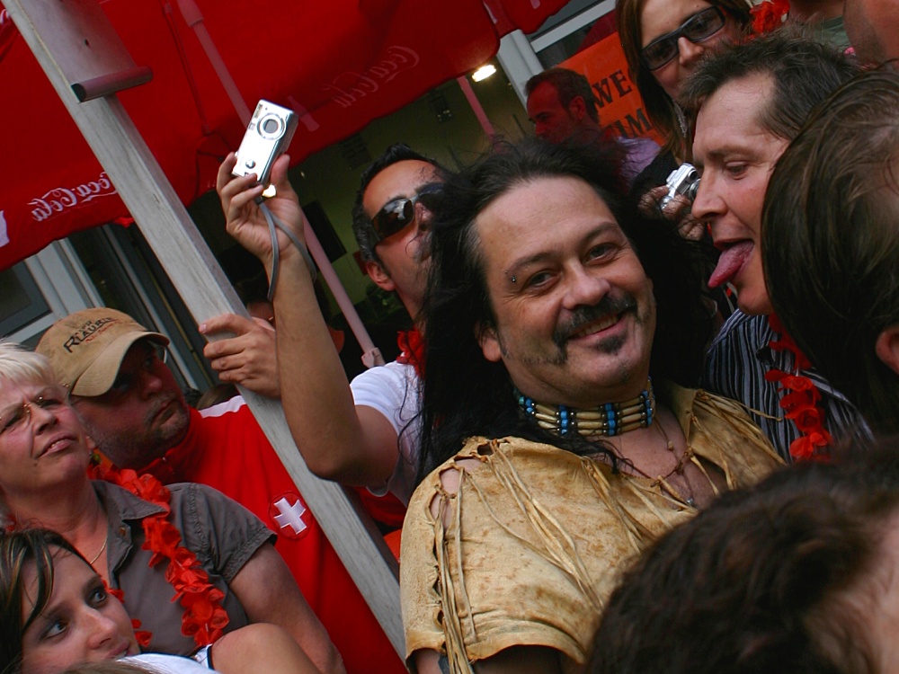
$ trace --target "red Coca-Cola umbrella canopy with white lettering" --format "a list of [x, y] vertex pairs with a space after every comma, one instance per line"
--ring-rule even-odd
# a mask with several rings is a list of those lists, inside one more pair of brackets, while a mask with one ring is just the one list
[[[251, 110], [261, 98], [300, 116], [294, 162], [478, 67], [499, 37], [535, 30], [566, 0], [105, 0], [103, 11], [153, 79], [120, 101], [175, 191], [215, 184], [242, 122], [207, 34]], [[485, 4], [487, 6], [485, 6]], [[0, 13], [0, 270], [54, 239], [128, 213], [28, 45]]]

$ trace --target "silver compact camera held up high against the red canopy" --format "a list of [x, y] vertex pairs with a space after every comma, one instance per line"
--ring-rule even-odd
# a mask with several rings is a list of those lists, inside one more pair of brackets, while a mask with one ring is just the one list
[[255, 173], [259, 182], [267, 186], [271, 164], [287, 151], [298, 121], [297, 115], [287, 108], [270, 101], [258, 102], [237, 148], [237, 164], [231, 173], [237, 176]]

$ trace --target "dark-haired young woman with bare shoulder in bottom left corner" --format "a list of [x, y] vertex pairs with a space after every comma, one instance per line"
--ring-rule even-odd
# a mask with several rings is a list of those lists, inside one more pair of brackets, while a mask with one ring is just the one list
[[0, 534], [0, 635], [4, 674], [62, 674], [119, 659], [172, 674], [213, 670], [213, 662], [223, 674], [318, 671], [292, 636], [266, 624], [226, 634], [195, 660], [141, 655], [120, 601], [65, 538], [46, 529]]

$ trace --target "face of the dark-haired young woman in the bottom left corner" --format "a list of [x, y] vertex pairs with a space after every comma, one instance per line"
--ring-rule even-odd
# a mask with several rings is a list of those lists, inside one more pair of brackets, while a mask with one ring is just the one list
[[[100, 576], [75, 554], [57, 550], [53, 558], [53, 593], [22, 634], [22, 674], [57, 674], [82, 662], [137, 655], [131, 620]], [[25, 581], [22, 616], [30, 616], [38, 581], [34, 564]]]

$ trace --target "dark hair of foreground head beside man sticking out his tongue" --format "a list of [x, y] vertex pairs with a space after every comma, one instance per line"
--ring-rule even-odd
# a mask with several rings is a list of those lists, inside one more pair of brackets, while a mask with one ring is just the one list
[[899, 74], [860, 75], [815, 109], [771, 175], [761, 233], [790, 336], [873, 430], [899, 432], [899, 362], [877, 353], [899, 326]]

